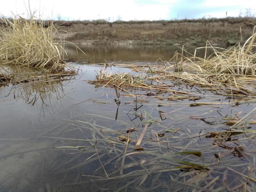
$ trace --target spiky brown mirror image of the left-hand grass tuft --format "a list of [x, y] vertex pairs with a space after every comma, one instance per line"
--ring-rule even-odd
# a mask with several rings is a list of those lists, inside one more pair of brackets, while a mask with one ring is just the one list
[[[57, 99], [64, 97], [63, 81], [73, 78], [76, 73], [59, 72], [55, 74], [45, 74], [45, 70], [39, 71], [33, 68], [6, 67], [0, 68], [5, 76], [11, 76], [9, 81], [2, 82], [3, 85], [12, 83], [13, 88], [19, 90], [16, 97], [22, 97], [27, 104], [34, 105], [39, 99], [42, 105], [49, 105], [53, 93], [56, 93]], [[0, 73], [1, 75], [1, 73]], [[1, 80], [2, 78], [0, 78]], [[1, 83], [1, 82], [0, 82]], [[13, 89], [12, 88], [12, 89]], [[62, 92], [62, 93], [61, 93]]]

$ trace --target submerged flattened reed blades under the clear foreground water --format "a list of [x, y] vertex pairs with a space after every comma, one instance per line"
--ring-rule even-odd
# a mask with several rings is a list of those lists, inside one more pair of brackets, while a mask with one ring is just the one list
[[[89, 121], [65, 119], [67, 125], [61, 124], [62, 132], [57, 131], [59, 128], [54, 128], [51, 129], [52, 133], [48, 134], [49, 136], [44, 137], [51, 141], [55, 140], [54, 148], [68, 156], [68, 161], [56, 159], [51, 165], [54, 180], [65, 175], [65, 180], [62, 181], [64, 184], [61, 187], [57, 186], [57, 191], [69, 187], [83, 191], [79, 189], [79, 186], [83, 185], [90, 191], [183, 191], [188, 188], [191, 191], [226, 191], [227, 188], [230, 191], [238, 191], [243, 185], [246, 185], [248, 191], [253, 191], [255, 164], [248, 162], [248, 149], [245, 151], [244, 145], [239, 145], [241, 140], [236, 139], [245, 139], [246, 133], [250, 134], [255, 130], [237, 130], [238, 134], [232, 132], [230, 141], [236, 142], [235, 145], [233, 143], [234, 147], [230, 146], [231, 142], [218, 140], [218, 137], [222, 139], [227, 133], [225, 131], [219, 136], [213, 135], [213, 144], [209, 145], [211, 137], [206, 130], [196, 133], [184, 126], [181, 130], [170, 129], [170, 124], [175, 127], [185, 118], [190, 118], [187, 114], [190, 113], [167, 113], [168, 123], [141, 123], [142, 126], [133, 128], [130, 128], [129, 121], [116, 122], [115, 119], [110, 119], [108, 114], [81, 115], [83, 119], [90, 119]], [[80, 118], [80, 115], [75, 118]], [[143, 118], [149, 118], [146, 112]], [[115, 127], [120, 129], [102, 125], [106, 123], [104, 119], [110, 121], [109, 124], [116, 124]], [[195, 125], [196, 128], [199, 124]], [[218, 126], [220, 125], [207, 125], [212, 129], [218, 129]], [[157, 127], [159, 129], [156, 132]], [[227, 126], [222, 124], [221, 128]], [[81, 137], [78, 137], [77, 131]], [[252, 140], [252, 137], [246, 139]], [[66, 141], [65, 145], [61, 140]], [[233, 155], [237, 157], [232, 157]], [[78, 157], [82, 157], [82, 161], [77, 162]], [[244, 161], [240, 161], [238, 157]], [[249, 170], [249, 174], [248, 168], [252, 169], [252, 172]], [[229, 180], [233, 172], [241, 173], [236, 175], [236, 182]], [[70, 174], [77, 177], [74, 179]]]

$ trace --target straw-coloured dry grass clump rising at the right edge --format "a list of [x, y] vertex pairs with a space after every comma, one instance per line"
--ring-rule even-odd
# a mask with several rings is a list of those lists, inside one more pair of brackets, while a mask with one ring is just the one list
[[[244, 45], [237, 44], [230, 49], [223, 49], [212, 46], [208, 41], [205, 47], [196, 48], [205, 49], [204, 58], [196, 57], [186, 52], [184, 47], [182, 53], [174, 55], [172, 60], [176, 63], [174, 68], [192, 69], [193, 71], [201, 72], [201, 74], [217, 74], [217, 75], [256, 75], [256, 26], [254, 25], [252, 36], [250, 36]], [[213, 53], [207, 56], [207, 51]], [[190, 56], [184, 56], [190, 55]], [[176, 60], [175, 60], [176, 59]], [[195, 70], [196, 69], [196, 70]], [[176, 69], [177, 70], [177, 69]]]

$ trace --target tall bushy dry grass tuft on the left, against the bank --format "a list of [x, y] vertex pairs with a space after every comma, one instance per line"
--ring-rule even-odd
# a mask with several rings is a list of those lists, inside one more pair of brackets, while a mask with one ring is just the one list
[[28, 20], [2, 17], [0, 23], [0, 64], [50, 68], [51, 73], [67, 66], [64, 41], [56, 39], [59, 34], [52, 22], [45, 27], [32, 15]]

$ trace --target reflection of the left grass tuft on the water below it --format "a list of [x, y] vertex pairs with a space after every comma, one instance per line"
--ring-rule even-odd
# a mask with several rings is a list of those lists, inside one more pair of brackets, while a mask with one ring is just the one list
[[53, 111], [55, 100], [61, 101], [68, 94], [64, 93], [64, 86], [74, 79], [74, 76], [49, 78], [44, 75], [44, 71], [32, 68], [21, 69], [5, 66], [0, 68], [0, 71], [13, 79], [10, 84], [4, 84], [5, 87], [1, 89], [1, 95], [4, 96], [3, 101], [15, 102], [22, 99], [24, 104], [32, 106], [40, 104], [42, 113], [44, 113], [44, 108], [48, 109], [47, 107], [52, 108]]

